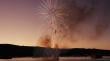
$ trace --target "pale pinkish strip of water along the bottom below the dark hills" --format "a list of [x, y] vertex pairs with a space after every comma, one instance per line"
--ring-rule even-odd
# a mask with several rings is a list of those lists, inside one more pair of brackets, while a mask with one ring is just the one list
[[[13, 58], [13, 59], [0, 59], [0, 61], [53, 61], [45, 60], [44, 58]], [[90, 57], [60, 57], [59, 61], [110, 61], [109, 58], [91, 59]]]

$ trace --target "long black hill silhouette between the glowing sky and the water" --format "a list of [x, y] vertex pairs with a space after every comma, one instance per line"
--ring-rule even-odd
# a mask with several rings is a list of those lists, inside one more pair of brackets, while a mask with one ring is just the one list
[[110, 56], [110, 50], [101, 49], [71, 48], [57, 49], [56, 52], [56, 49], [53, 48], [0, 44], [0, 58], [2, 59], [15, 57], [51, 57], [55, 53], [60, 57], [91, 56], [92, 58], [102, 58], [103, 56]]

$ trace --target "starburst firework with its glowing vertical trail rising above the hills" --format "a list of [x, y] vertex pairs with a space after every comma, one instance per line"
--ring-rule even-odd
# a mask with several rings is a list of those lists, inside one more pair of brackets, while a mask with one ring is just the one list
[[[55, 45], [54, 39], [61, 33], [61, 29], [63, 25], [63, 17], [66, 15], [64, 12], [65, 9], [58, 6], [58, 0], [41, 0], [41, 5], [39, 6], [39, 13], [42, 18], [45, 18], [50, 24], [51, 29], [51, 38], [52, 38], [52, 46]], [[66, 26], [65, 26], [66, 27]]]

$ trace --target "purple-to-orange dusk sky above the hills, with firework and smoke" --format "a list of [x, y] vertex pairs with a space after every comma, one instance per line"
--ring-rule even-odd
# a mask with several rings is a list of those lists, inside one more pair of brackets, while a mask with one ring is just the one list
[[59, 48], [110, 49], [109, 11], [110, 0], [0, 0], [0, 43], [39, 46], [54, 28]]

